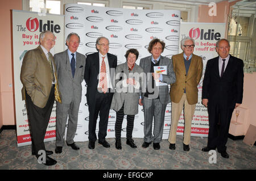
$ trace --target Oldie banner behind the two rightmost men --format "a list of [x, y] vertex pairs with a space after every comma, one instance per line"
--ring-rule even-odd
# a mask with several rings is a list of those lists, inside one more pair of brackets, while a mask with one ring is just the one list
[[[198, 103], [196, 104], [195, 114], [191, 125], [191, 136], [208, 137], [209, 122], [207, 108], [201, 104], [202, 86], [204, 79], [205, 66], [207, 61], [218, 54], [215, 50], [216, 42], [225, 38], [225, 23], [181, 23], [180, 40], [191, 37], [195, 40], [194, 54], [203, 58], [203, 76], [197, 88], [199, 89]], [[179, 53], [182, 50], [179, 43]], [[181, 113], [177, 134], [183, 134], [184, 112]]]

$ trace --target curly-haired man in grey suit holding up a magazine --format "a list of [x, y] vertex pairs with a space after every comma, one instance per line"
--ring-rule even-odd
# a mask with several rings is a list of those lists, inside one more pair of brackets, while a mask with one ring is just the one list
[[[139, 63], [139, 66], [146, 73], [147, 86], [146, 92], [142, 91], [141, 99], [139, 99], [139, 104], [143, 105], [144, 110], [144, 142], [142, 147], [147, 148], [153, 142], [155, 150], [160, 149], [166, 106], [171, 102], [168, 85], [176, 81], [172, 61], [161, 56], [165, 45], [159, 39], [151, 40], [148, 46], [148, 52], [151, 53], [151, 56], [142, 58]], [[162, 71], [166, 71], [166, 73], [160, 74], [158, 71], [154, 71], [154, 67], [163, 68]], [[156, 82], [159, 86], [156, 85]], [[154, 135], [152, 135], [153, 117]]]

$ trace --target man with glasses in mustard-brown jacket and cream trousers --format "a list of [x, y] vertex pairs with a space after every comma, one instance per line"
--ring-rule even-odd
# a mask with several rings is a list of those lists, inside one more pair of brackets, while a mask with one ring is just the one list
[[193, 54], [195, 41], [191, 38], [181, 40], [183, 53], [172, 56], [176, 82], [171, 85], [172, 119], [168, 141], [169, 148], [175, 150], [177, 124], [184, 106], [184, 140], [183, 150], [189, 151], [191, 121], [195, 112], [198, 89], [203, 72], [203, 60]]

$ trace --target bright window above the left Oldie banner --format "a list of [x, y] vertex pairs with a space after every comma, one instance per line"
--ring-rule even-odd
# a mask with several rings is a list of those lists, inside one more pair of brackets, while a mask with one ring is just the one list
[[30, 11], [60, 14], [60, 1], [30, 0]]

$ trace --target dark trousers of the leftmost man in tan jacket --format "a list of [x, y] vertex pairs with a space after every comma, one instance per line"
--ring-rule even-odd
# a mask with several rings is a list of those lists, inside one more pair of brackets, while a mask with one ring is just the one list
[[26, 91], [26, 106], [28, 113], [28, 123], [30, 125], [30, 135], [32, 142], [32, 154], [38, 157], [39, 150], [46, 150], [44, 145], [44, 136], [46, 135], [46, 129], [49, 123], [49, 118], [51, 116], [52, 107], [54, 103], [54, 87], [52, 86], [51, 92], [49, 94], [49, 99], [44, 108], [35, 106], [32, 102], [31, 97]]

